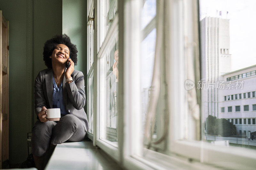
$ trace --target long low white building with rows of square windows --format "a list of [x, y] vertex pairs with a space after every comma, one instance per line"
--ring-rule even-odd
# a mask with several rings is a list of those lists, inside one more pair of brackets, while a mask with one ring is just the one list
[[[219, 90], [218, 118], [225, 118], [235, 124], [238, 133], [256, 131], [256, 65], [221, 77], [225, 81], [225, 88]], [[236, 87], [236, 82], [242, 86]], [[227, 88], [228, 84], [233, 87]]]

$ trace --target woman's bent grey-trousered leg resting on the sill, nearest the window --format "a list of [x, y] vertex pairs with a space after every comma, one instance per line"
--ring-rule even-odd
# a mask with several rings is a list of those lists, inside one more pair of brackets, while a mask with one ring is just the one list
[[82, 122], [74, 115], [65, 115], [52, 129], [51, 144], [62, 144], [63, 142], [78, 142], [85, 137]]

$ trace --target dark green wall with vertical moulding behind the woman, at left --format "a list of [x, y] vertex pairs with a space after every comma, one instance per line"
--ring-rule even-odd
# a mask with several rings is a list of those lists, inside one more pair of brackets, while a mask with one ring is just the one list
[[[16, 166], [27, 159], [27, 132], [29, 122], [26, 107], [32, 107], [33, 102], [26, 101], [27, 87], [27, 3], [29, 0], [1, 0], [0, 9], [6, 20], [10, 21], [9, 27], [9, 160]], [[46, 68], [43, 61], [43, 46], [47, 39], [55, 34], [62, 33], [62, 1], [61, 0], [31, 0], [33, 3], [33, 73], [34, 79], [38, 71]], [[32, 14], [32, 12], [31, 12]], [[31, 95], [33, 96], [32, 92]], [[33, 97], [32, 97], [33, 98]], [[34, 118], [35, 119], [35, 118]], [[35, 123], [35, 121], [33, 122]], [[32, 125], [32, 124], [31, 124]], [[30, 128], [31, 129], [31, 128]]]

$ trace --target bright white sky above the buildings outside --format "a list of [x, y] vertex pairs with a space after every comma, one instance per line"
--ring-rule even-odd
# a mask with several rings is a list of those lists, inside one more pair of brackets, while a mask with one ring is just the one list
[[200, 20], [206, 16], [230, 19], [231, 71], [256, 65], [256, 0], [199, 0], [199, 5]]

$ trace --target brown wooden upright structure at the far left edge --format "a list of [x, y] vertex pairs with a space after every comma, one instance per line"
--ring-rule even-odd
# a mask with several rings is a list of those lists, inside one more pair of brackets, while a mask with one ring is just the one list
[[0, 11], [0, 168], [9, 165], [9, 21]]

